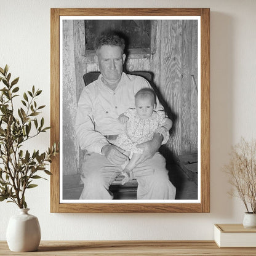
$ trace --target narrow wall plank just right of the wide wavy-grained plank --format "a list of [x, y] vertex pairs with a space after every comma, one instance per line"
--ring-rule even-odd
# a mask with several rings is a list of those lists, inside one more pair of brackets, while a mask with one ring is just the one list
[[191, 102], [191, 55], [192, 23], [183, 20], [182, 28], [182, 154], [190, 153], [190, 102]]

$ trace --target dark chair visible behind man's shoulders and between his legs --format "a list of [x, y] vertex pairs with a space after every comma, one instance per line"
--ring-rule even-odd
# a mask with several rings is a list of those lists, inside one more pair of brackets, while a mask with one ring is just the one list
[[[148, 82], [151, 82], [153, 76], [150, 72], [146, 71], [137, 71], [137, 72], [130, 72], [127, 74], [135, 74], [137, 76], [142, 76]], [[84, 74], [84, 84], [87, 86], [91, 82], [98, 79], [98, 76], [100, 75], [100, 72], [94, 71]], [[122, 176], [117, 177], [114, 182], [110, 185], [110, 191], [114, 195], [114, 199], [137, 199], [137, 187], [138, 182], [136, 179], [130, 180], [126, 184], [122, 185]]]

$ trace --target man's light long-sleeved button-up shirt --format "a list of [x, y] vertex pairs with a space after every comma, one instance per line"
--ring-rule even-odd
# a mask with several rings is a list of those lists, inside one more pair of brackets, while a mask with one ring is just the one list
[[[135, 94], [145, 87], [151, 88], [146, 79], [126, 73], [122, 73], [115, 90], [102, 82], [102, 74], [84, 87], [75, 126], [81, 150], [102, 154], [102, 147], [109, 144], [104, 135], [121, 133], [124, 125], [118, 121], [118, 116], [135, 108]], [[164, 111], [158, 98], [155, 111]]]

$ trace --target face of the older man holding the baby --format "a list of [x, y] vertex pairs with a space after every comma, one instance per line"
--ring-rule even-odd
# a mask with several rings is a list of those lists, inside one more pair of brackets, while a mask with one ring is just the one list
[[97, 50], [98, 67], [103, 79], [109, 85], [119, 82], [126, 55], [119, 46], [102, 46]]

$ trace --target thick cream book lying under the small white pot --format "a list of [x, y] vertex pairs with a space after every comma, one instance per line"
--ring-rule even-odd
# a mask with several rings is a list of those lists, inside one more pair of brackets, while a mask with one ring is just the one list
[[242, 224], [215, 224], [214, 241], [218, 247], [256, 247], [256, 228]]

